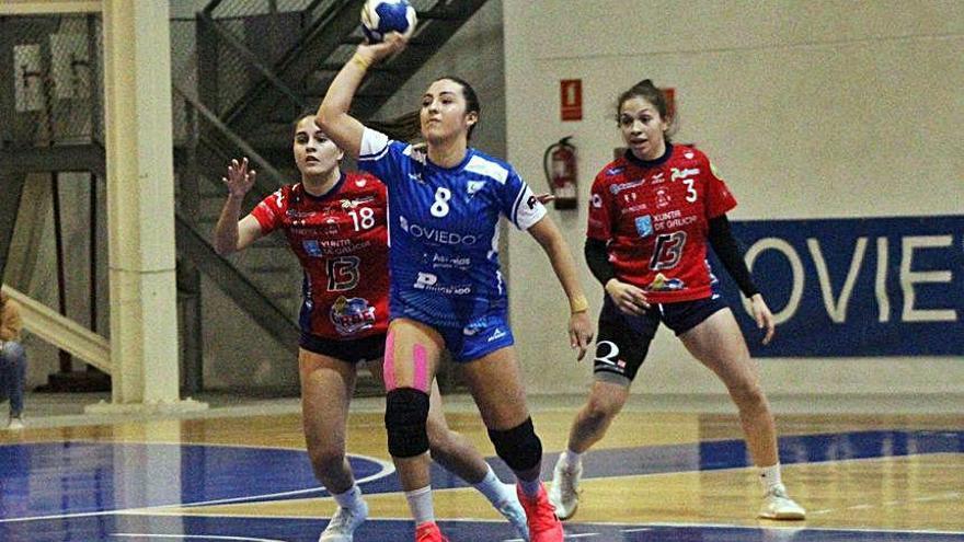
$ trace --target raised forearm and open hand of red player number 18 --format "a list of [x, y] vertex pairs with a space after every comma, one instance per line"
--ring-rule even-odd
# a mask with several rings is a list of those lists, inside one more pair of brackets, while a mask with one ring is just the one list
[[228, 199], [225, 201], [225, 207], [221, 208], [218, 224], [215, 227], [215, 251], [218, 254], [226, 255], [244, 250], [263, 234], [261, 224], [251, 215], [238, 220], [241, 216], [244, 195], [254, 185], [255, 175], [257, 172], [248, 170], [248, 159], [245, 158], [240, 163], [237, 160], [231, 160], [231, 165], [228, 166], [228, 176], [221, 177], [228, 187]]

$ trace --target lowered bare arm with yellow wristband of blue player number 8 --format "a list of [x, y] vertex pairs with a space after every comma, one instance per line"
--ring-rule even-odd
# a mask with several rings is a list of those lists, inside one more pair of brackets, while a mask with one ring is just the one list
[[569, 338], [572, 348], [578, 348], [577, 359], [583, 359], [586, 349], [593, 342], [593, 323], [589, 321], [589, 302], [586, 295], [583, 293], [583, 287], [579, 284], [576, 274], [576, 264], [569, 250], [569, 244], [562, 238], [555, 222], [549, 217], [529, 227], [528, 232], [546, 251], [549, 262], [552, 264], [552, 270], [555, 277], [565, 290], [569, 298], [570, 320], [569, 320]]

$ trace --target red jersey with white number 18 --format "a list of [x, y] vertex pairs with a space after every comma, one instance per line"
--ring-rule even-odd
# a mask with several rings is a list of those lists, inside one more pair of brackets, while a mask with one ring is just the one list
[[354, 339], [388, 328], [388, 195], [376, 177], [342, 174], [324, 196], [286, 185], [251, 211], [283, 230], [305, 270], [301, 331]]

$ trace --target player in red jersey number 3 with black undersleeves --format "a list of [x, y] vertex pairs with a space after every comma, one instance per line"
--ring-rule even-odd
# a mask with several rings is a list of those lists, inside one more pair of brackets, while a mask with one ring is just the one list
[[803, 519], [780, 480], [777, 433], [758, 369], [730, 309], [713, 292], [711, 245], [773, 336], [773, 316], [753, 282], [726, 212], [736, 199], [697, 149], [673, 145], [666, 97], [650, 80], [619, 96], [628, 150], [596, 176], [586, 261], [606, 296], [599, 314], [595, 382], [555, 464], [550, 499], [562, 519], [578, 506], [581, 455], [622, 408], [659, 323], [726, 384], [765, 488], [759, 517]]

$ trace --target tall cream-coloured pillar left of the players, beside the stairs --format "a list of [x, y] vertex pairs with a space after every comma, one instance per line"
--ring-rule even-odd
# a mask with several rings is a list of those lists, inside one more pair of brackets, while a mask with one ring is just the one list
[[199, 410], [179, 395], [169, 2], [104, 0], [112, 405]]

